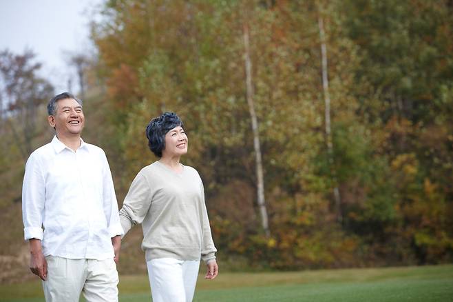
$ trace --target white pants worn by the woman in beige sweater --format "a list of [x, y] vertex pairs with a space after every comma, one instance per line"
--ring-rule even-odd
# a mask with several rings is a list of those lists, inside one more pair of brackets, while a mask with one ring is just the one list
[[200, 261], [160, 258], [147, 261], [153, 302], [190, 302]]

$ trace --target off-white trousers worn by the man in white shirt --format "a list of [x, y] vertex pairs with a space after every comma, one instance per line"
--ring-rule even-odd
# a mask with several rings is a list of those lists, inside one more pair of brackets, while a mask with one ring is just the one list
[[81, 292], [87, 302], [118, 301], [118, 272], [114, 259], [66, 259], [45, 257], [48, 277], [43, 281], [47, 302], [78, 302]]

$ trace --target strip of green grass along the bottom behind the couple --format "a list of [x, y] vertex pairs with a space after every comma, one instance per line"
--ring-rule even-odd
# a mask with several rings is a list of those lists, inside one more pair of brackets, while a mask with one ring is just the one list
[[[120, 301], [151, 301], [147, 276], [120, 276]], [[44, 301], [39, 281], [0, 285], [0, 301]], [[453, 301], [453, 265], [200, 275], [193, 301]]]

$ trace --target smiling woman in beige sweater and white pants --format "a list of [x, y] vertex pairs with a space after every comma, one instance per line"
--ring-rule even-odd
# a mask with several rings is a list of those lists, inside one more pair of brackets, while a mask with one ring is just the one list
[[138, 172], [120, 210], [125, 234], [142, 224], [154, 302], [192, 301], [200, 258], [207, 264], [205, 278], [218, 274], [202, 180], [180, 163], [188, 143], [183, 127], [172, 112], [149, 122], [149, 149], [159, 160]]

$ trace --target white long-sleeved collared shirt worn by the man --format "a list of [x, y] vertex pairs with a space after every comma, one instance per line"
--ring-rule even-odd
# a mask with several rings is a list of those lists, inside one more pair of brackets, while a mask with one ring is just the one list
[[104, 260], [112, 237], [123, 234], [112, 173], [101, 148], [74, 152], [57, 137], [25, 165], [22, 188], [25, 240], [41, 239], [44, 256]]

